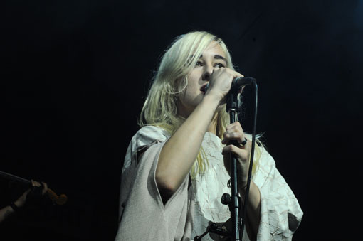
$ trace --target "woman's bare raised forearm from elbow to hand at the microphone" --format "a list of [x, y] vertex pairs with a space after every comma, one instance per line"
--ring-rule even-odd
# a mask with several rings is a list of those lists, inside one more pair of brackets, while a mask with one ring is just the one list
[[164, 144], [155, 173], [164, 203], [188, 175], [217, 107], [231, 88], [233, 77], [238, 76], [241, 74], [228, 68], [214, 70], [211, 73], [209, 89], [199, 105]]

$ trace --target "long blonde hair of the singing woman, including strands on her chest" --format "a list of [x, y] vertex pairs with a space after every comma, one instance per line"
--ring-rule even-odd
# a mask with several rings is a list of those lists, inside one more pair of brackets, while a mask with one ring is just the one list
[[[213, 41], [219, 44], [223, 52], [226, 53], [226, 68], [234, 70], [231, 54], [221, 38], [204, 31], [194, 31], [178, 36], [164, 53], [159, 69], [152, 80], [152, 85], [149, 88], [149, 93], [140, 114], [138, 123], [140, 127], [146, 125], [161, 127], [170, 135], [177, 131], [184, 122], [184, 118], [180, 117], [177, 111], [179, 93], [188, 85], [186, 76], [194, 68], [207, 46]], [[216, 135], [221, 139], [228, 124], [228, 113], [225, 109], [221, 109], [217, 114], [216, 123]], [[259, 150], [257, 154], [258, 160]], [[196, 173], [203, 172], [207, 165], [208, 160], [201, 148], [196, 157], [196, 162], [191, 168], [191, 176], [194, 178]], [[253, 166], [255, 169], [253, 173], [255, 173], [256, 165]]]

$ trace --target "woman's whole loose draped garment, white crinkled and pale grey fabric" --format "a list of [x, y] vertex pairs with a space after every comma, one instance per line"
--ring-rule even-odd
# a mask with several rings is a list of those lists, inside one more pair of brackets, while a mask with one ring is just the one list
[[[152, 126], [142, 127], [132, 137], [122, 168], [120, 227], [116, 240], [193, 240], [205, 232], [211, 222], [222, 224], [230, 218], [228, 207], [221, 204], [223, 193], [231, 193], [221, 154], [223, 145], [218, 136], [209, 132], [202, 142], [208, 160], [206, 171], [191, 180], [191, 188], [188, 188], [190, 179], [186, 178], [163, 205], [154, 171], [159, 151], [169, 137], [163, 129]], [[144, 150], [147, 151], [138, 163], [137, 152]], [[302, 210], [265, 149], [252, 180], [261, 193], [257, 240], [291, 240], [300, 224]], [[137, 203], [139, 200], [142, 202]], [[133, 232], [142, 236], [135, 239]], [[219, 235], [209, 234], [202, 240], [222, 239]], [[243, 240], [248, 240], [246, 232]]]

